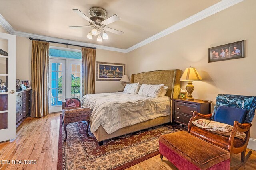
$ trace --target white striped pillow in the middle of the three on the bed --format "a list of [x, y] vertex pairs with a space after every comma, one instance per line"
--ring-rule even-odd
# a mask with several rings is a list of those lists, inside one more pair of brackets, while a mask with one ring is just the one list
[[164, 84], [142, 84], [139, 90], [139, 95], [158, 98]]

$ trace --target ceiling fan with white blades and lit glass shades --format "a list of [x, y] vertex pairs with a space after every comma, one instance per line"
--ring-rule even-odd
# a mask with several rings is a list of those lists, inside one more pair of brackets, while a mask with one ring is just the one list
[[[106, 25], [113, 23], [115, 21], [120, 20], [120, 18], [115, 14], [107, 19], [104, 19], [107, 16], [107, 12], [98, 7], [92, 7], [89, 10], [89, 14], [91, 17], [89, 18], [84, 13], [82, 13], [78, 9], [73, 9], [74, 12], [76, 12], [79, 16], [89, 21], [90, 25], [82, 25], [82, 26], [69, 26], [70, 28], [74, 27], [93, 27], [93, 29], [87, 34], [88, 39], [92, 39], [92, 35], [97, 36], [97, 41], [102, 41], [102, 39], [108, 39], [108, 35], [105, 31], [115, 33], [118, 35], [122, 35], [124, 32], [118, 31], [113, 28], [106, 27]], [[101, 36], [102, 33], [102, 36]]]

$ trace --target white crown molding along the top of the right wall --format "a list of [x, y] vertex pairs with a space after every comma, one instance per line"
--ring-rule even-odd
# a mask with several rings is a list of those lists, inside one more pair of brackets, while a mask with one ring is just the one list
[[128, 49], [126, 49], [126, 53], [129, 53], [130, 51], [133, 51], [139, 47], [142, 47], [148, 43], [151, 43], [152, 41], [160, 39], [170, 33], [178, 31], [179, 29], [182, 29], [188, 25], [191, 25], [192, 23], [200, 21], [208, 16], [216, 14], [217, 12], [220, 12], [220, 11], [222, 11], [226, 8], [229, 8], [230, 6], [233, 6], [235, 4], [238, 4], [239, 2], [242, 2], [242, 1], [244, 1], [244, 0], [222, 0], [214, 5], [198, 12], [197, 14], [194, 14], [193, 16], [190, 16], [190, 17], [186, 18], [185, 20], [182, 20], [179, 23], [176, 23], [175, 25], [172, 25], [171, 27], [164, 29], [163, 31], [141, 41], [140, 43], [137, 43], [137, 44], [133, 45], [132, 47], [129, 47]]

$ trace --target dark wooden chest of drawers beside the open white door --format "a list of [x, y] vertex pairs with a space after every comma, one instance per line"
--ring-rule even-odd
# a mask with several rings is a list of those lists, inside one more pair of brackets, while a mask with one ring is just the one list
[[16, 92], [16, 127], [30, 116], [31, 90], [17, 90]]

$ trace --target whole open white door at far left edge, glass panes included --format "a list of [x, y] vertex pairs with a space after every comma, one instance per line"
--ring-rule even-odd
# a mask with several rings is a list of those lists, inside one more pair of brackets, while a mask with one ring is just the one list
[[0, 141], [16, 136], [16, 36], [0, 33]]

